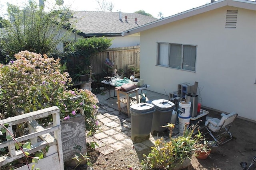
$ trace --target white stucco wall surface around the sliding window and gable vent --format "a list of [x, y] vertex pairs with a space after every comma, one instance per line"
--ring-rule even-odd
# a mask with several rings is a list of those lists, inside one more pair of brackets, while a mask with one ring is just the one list
[[[237, 27], [225, 29], [226, 10], [233, 9], [238, 9]], [[255, 30], [255, 11], [223, 7], [143, 31], [140, 78], [161, 94], [176, 91], [180, 83], [197, 81], [203, 106], [236, 111], [256, 121]], [[156, 42], [197, 45], [196, 72], [156, 66]]]

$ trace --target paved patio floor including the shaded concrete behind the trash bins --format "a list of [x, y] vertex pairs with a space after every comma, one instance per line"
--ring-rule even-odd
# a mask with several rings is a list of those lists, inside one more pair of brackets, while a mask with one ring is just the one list
[[[139, 93], [141, 92], [142, 91], [140, 91]], [[150, 90], [143, 90], [143, 92], [146, 93], [147, 101], [157, 99], [168, 100], [167, 95], [152, 92]], [[104, 93], [102, 94], [97, 94], [96, 96], [99, 100], [98, 106], [100, 107], [98, 109], [100, 114], [97, 115], [97, 119], [101, 126], [94, 136], [86, 137], [86, 142], [98, 143], [99, 146], [96, 147], [96, 150], [98, 150], [102, 154], [106, 155], [114, 152], [115, 150], [122, 149], [125, 145], [129, 145], [140, 151], [146, 149], [146, 147], [152, 147], [154, 145], [154, 141], [160, 137], [164, 137], [166, 139], [169, 138], [168, 133], [162, 133], [161, 135], [156, 134], [154, 136], [150, 134], [150, 138], [142, 141], [141, 143], [136, 143], [132, 141], [131, 119], [128, 117], [127, 114], [120, 113], [118, 111], [116, 97], [108, 99], [110, 96], [114, 96], [114, 90], [110, 90], [110, 96], [108, 90], [104, 91]], [[174, 129], [173, 134], [178, 134], [178, 125]]]

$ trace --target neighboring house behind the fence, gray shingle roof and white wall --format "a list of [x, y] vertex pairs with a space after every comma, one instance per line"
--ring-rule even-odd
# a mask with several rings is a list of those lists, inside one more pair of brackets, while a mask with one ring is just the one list
[[[123, 38], [122, 31], [156, 20], [158, 19], [136, 13], [72, 11], [72, 28], [79, 32], [72, 33], [66, 41], [104, 36], [112, 39], [110, 48], [135, 46], [140, 44], [140, 34]], [[58, 49], [63, 51], [63, 43], [58, 45]]]

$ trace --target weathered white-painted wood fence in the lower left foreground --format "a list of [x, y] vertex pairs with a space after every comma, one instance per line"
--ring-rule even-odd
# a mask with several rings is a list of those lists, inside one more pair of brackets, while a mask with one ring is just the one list
[[[53, 127], [44, 129], [41, 127], [35, 120], [43, 117], [48, 117], [52, 115], [53, 119]], [[30, 169], [33, 164], [35, 164], [35, 168], [40, 168], [40, 170], [64, 170], [64, 162], [62, 155], [62, 139], [61, 139], [61, 125], [60, 125], [60, 109], [57, 106], [48, 107], [46, 109], [41, 109], [38, 111], [33, 111], [30, 113], [18, 115], [15, 117], [10, 117], [7, 119], [0, 120], [2, 125], [8, 124], [8, 130], [13, 133], [12, 126], [20, 123], [26, 122], [29, 127], [29, 134], [24, 135], [22, 137], [16, 138], [18, 142], [22, 141], [30, 141], [31, 148], [24, 149], [25, 152], [30, 154], [38, 151], [44, 150], [46, 146], [50, 146], [48, 152], [44, 155], [44, 158], [38, 160], [38, 163], [31, 163]], [[50, 135], [50, 133], [54, 133], [54, 137]], [[6, 135], [9, 135], [6, 132]], [[40, 138], [40, 140], [39, 140]], [[24, 154], [21, 150], [15, 149], [16, 142], [12, 140], [8, 140], [0, 143], [0, 147], [8, 147], [9, 156], [1, 156], [0, 157], [0, 165], [3, 166], [17, 160], [19, 158], [24, 157]], [[17, 170], [28, 170], [28, 166], [22, 166]]]

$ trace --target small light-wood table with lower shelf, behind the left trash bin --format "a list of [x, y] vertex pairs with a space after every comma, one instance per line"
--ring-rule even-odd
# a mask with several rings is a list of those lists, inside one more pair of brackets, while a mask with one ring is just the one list
[[[116, 90], [117, 102], [118, 102], [118, 111], [119, 112], [126, 113], [128, 115], [128, 117], [131, 116], [130, 115], [130, 103], [131, 102], [135, 102], [135, 101], [137, 103], [139, 103], [138, 90], [139, 90], [139, 88], [134, 88], [134, 89], [129, 90], [127, 92]], [[134, 94], [134, 93], [136, 94], [136, 99], [129, 96], [130, 94]], [[124, 94], [125, 97], [124, 98], [120, 98], [120, 94]], [[121, 108], [120, 103], [124, 103], [124, 104], [126, 104], [126, 106]]]

